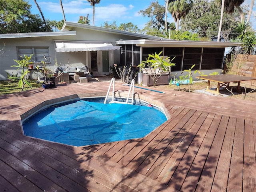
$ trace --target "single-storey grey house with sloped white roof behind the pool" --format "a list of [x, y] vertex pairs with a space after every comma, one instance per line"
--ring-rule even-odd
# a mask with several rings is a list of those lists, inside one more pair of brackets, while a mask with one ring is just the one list
[[[45, 55], [50, 57], [51, 68], [54, 68], [56, 58], [62, 66], [68, 63], [71, 67], [88, 66], [94, 76], [103, 76], [111, 73], [113, 64], [138, 66], [148, 54], [163, 51], [164, 56], [175, 57], [176, 66], [171, 71], [176, 76], [193, 64], [196, 64], [193, 70], [201, 70], [204, 74], [221, 73], [225, 48], [237, 45], [232, 42], [176, 41], [74, 22], [65, 22], [60, 32], [0, 34], [0, 39], [3, 49], [0, 80], [7, 79], [6, 72], [16, 73], [16, 68], [10, 66], [23, 54], [34, 54], [36, 64], [40, 64]], [[141, 82], [141, 73], [138, 77]]]

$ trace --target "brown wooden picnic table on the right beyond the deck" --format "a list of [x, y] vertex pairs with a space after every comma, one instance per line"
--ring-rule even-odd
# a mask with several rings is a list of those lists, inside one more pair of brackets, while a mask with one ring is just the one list
[[[208, 80], [206, 91], [211, 92], [213, 94], [220, 94], [220, 88], [223, 87], [223, 86], [229, 88], [229, 84], [232, 83], [232, 82], [237, 82], [237, 88], [236, 89], [237, 89], [238, 92], [240, 92], [240, 82], [241, 81], [256, 80], [256, 78], [254, 78], [254, 77], [232, 75], [232, 74], [197, 76], [196, 78], [200, 78], [200, 79], [203, 79], [203, 80]], [[211, 81], [218, 83], [217, 88], [215, 90], [210, 90], [210, 82]]]

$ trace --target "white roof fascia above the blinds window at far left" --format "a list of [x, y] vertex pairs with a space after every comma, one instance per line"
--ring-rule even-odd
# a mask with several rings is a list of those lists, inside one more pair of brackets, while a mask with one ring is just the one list
[[76, 35], [76, 31], [0, 34], [1, 39]]

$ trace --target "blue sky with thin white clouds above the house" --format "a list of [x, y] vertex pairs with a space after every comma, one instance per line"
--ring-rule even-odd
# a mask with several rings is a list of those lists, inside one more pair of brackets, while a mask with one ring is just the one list
[[[138, 12], [140, 10], [145, 10], [152, 1], [153, 0], [101, 0], [100, 3], [95, 6], [95, 26], [104, 25], [104, 22], [106, 21], [108, 21], [108, 24], [112, 24], [112, 22], [116, 21], [117, 26], [121, 23], [132, 22], [137, 25], [138, 28], [142, 29], [150, 19], [139, 15]], [[29, 0], [29, 2], [32, 5], [32, 13], [40, 15], [34, 0]], [[46, 19], [56, 21], [63, 19], [60, 0], [37, 0], [37, 3]], [[165, 4], [164, 0], [158, 0], [158, 3], [161, 5]], [[244, 1], [244, 4], [250, 3], [250, 0]], [[89, 14], [90, 25], [93, 25], [92, 6], [90, 6], [87, 0], [62, 0], [62, 5], [67, 21], [78, 22], [79, 16], [86, 16]], [[256, 29], [255, 10], [256, 6], [254, 6], [254, 12], [251, 16], [254, 30]], [[174, 22], [170, 13], [168, 13], [167, 18], [168, 22]]]

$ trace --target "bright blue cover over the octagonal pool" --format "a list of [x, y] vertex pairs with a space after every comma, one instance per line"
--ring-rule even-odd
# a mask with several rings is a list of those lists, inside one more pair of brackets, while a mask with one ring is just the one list
[[84, 146], [142, 138], [165, 121], [153, 107], [80, 100], [32, 116], [23, 130], [27, 136]]

